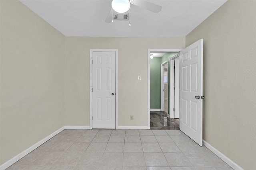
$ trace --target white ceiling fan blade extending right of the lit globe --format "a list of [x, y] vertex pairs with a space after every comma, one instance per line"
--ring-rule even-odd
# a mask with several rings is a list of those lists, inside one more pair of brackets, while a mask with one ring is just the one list
[[154, 13], [158, 13], [162, 10], [162, 6], [153, 4], [146, 0], [130, 0], [130, 2], [131, 2], [131, 4], [134, 4], [136, 6], [139, 6], [141, 8], [144, 8], [144, 9], [149, 10]]

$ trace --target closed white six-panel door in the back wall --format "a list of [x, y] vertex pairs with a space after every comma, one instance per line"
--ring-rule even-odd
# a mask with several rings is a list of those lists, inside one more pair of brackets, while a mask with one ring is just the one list
[[92, 128], [116, 127], [116, 52], [92, 52]]

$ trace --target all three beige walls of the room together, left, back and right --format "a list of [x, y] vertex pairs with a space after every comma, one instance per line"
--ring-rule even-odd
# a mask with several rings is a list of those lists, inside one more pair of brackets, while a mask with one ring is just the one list
[[[146, 126], [148, 49], [185, 47], [185, 37], [64, 37], [18, 1], [0, 6], [0, 164], [64, 125], [89, 125], [90, 49], [118, 49], [118, 125]], [[186, 36], [186, 46], [204, 38], [203, 138], [249, 170], [255, 9], [256, 1], [228, 1]]]

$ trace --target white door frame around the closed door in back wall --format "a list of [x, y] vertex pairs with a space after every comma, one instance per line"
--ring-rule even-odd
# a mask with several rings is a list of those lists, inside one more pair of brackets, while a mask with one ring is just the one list
[[118, 49], [90, 49], [90, 129], [92, 129], [92, 52], [116, 52], [116, 129], [118, 128]]

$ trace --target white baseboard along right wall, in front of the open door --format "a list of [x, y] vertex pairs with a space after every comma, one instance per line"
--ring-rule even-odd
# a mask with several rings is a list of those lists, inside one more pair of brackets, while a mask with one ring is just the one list
[[233, 168], [234, 170], [244, 170], [238, 164], [233, 162], [230, 158], [222, 154], [220, 151], [218, 151], [216, 148], [214, 148], [212, 145], [210, 145], [204, 140], [203, 140], [203, 145], [209, 150], [211, 150], [214, 154], [216, 154], [219, 158], [221, 158], [224, 162], [226, 162], [229, 166], [231, 166], [231, 168]]

